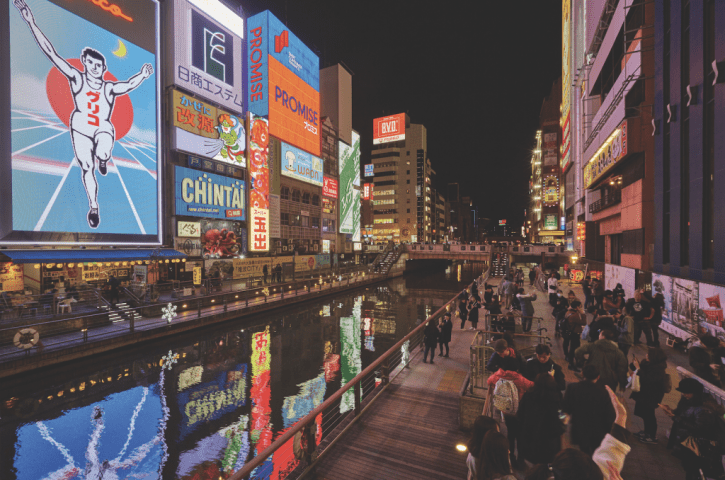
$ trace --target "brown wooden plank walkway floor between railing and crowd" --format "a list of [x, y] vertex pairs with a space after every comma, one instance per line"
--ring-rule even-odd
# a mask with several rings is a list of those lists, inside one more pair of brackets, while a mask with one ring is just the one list
[[[488, 283], [497, 284], [498, 279], [490, 279]], [[528, 291], [530, 287], [525, 288]], [[570, 289], [578, 298], [584, 298], [579, 285], [562, 286], [565, 295]], [[579, 374], [568, 370], [563, 360], [562, 339], [554, 338], [554, 318], [548, 296], [539, 292], [534, 306], [535, 315], [543, 317], [542, 327], [547, 328], [551, 336], [552, 359], [563, 367], [567, 383], [580, 381]], [[457, 323], [454, 318], [450, 358], [436, 356], [435, 364], [424, 364], [421, 350], [411, 352], [410, 368], [391, 382], [388, 391], [362, 414], [342, 441], [330, 447], [307, 478], [466, 478], [467, 452], [458, 452], [455, 446], [466, 443], [469, 436], [458, 428], [458, 405], [469, 369], [469, 346], [475, 332], [460, 330]], [[661, 336], [660, 340], [669, 357], [667, 372], [672, 378], [673, 390], [665, 396], [663, 403], [674, 408], [680, 398], [675, 390], [680, 380], [676, 368], [686, 366], [687, 357], [664, 346], [664, 338]], [[646, 348], [633, 347], [631, 353], [643, 359]], [[624, 399], [629, 413], [628, 430], [643, 430], [642, 420], [632, 414], [634, 402], [629, 400], [629, 392], [625, 393]], [[684, 478], [679, 460], [665, 448], [672, 421], [658, 409], [657, 422], [656, 445], [645, 445], [631, 437], [632, 451], [622, 471], [625, 480]], [[505, 425], [502, 430], [505, 431]], [[570, 446], [568, 438], [564, 439], [563, 446]], [[521, 480], [525, 478], [522, 470], [515, 474]]]

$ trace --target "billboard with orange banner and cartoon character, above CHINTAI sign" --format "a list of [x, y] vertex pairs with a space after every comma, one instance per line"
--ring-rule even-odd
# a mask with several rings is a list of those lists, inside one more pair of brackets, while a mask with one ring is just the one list
[[171, 97], [176, 150], [247, 166], [243, 118], [179, 90], [174, 90]]

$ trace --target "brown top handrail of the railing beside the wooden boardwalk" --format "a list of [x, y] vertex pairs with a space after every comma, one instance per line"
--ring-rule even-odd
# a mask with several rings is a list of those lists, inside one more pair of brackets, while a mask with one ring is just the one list
[[[485, 273], [486, 278], [488, 278], [488, 273], [490, 270], [487, 270]], [[471, 282], [471, 284], [467, 287], [470, 288], [476, 283], [474, 280]], [[415, 327], [413, 330], [410, 331], [405, 337], [403, 337], [398, 343], [393, 345], [390, 349], [388, 349], [387, 352], [382, 354], [377, 360], [375, 360], [372, 364], [370, 364], [365, 370], [360, 372], [355, 378], [347, 382], [345, 385], [343, 385], [337, 392], [335, 392], [330, 398], [322, 402], [320, 405], [317, 406], [314, 410], [312, 410], [310, 413], [308, 413], [305, 417], [300, 419], [295, 425], [293, 425], [289, 430], [287, 430], [285, 433], [283, 433], [277, 440], [272, 442], [272, 444], [265, 448], [261, 453], [257, 454], [251, 461], [247, 462], [247, 464], [242, 467], [241, 470], [234, 473], [231, 477], [229, 477], [229, 480], [242, 480], [244, 478], [247, 478], [254, 469], [256, 469], [258, 466], [260, 466], [262, 463], [264, 463], [267, 458], [269, 458], [270, 455], [272, 455], [275, 451], [277, 451], [280, 447], [282, 447], [284, 444], [286, 444], [291, 438], [293, 438], [297, 432], [302, 430], [307, 426], [308, 423], [312, 422], [317, 415], [325, 411], [328, 407], [332, 406], [336, 401], [338, 401], [342, 395], [353, 388], [358, 382], [362, 381], [367, 375], [370, 375], [372, 372], [375, 371], [377, 367], [380, 366], [380, 364], [383, 363], [383, 361], [387, 360], [391, 355], [397, 353], [400, 351], [401, 347], [405, 344], [405, 342], [409, 341], [414, 335], [418, 334], [419, 332], [423, 331], [425, 329], [426, 325], [428, 325], [428, 322], [436, 318], [437, 316], [441, 315], [444, 311], [448, 312], [450, 311], [449, 306], [453, 303], [455, 304], [456, 300], [458, 299], [458, 295], [454, 296], [451, 300], [446, 302], [441, 308], [436, 310], [433, 314], [431, 314], [428, 318], [425, 319], [425, 321], [421, 322], [420, 325]]]

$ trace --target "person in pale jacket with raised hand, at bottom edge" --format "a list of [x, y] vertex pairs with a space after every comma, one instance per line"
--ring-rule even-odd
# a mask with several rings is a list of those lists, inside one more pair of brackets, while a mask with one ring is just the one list
[[616, 419], [611, 433], [589, 457], [586, 453], [567, 448], [556, 454], [554, 461], [537, 465], [526, 480], [622, 480], [624, 459], [631, 450], [627, 445], [627, 411], [611, 388], [606, 387], [612, 400]]

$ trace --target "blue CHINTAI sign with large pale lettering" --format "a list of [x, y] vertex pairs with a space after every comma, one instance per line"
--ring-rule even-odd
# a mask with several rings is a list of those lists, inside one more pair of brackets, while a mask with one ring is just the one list
[[176, 215], [246, 219], [244, 181], [174, 167]]

